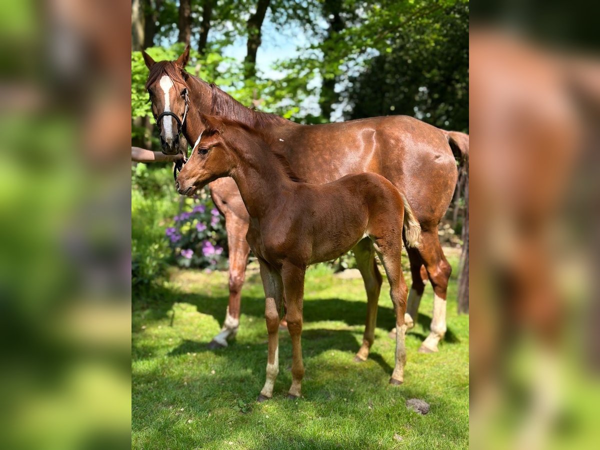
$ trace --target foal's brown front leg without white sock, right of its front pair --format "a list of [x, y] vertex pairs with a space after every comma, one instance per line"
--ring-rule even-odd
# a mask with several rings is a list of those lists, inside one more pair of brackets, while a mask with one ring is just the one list
[[284, 293], [287, 305], [287, 330], [292, 337], [292, 386], [288, 398], [298, 398], [302, 395], [302, 301], [304, 298], [304, 274], [306, 269], [290, 263], [284, 263], [281, 268]]

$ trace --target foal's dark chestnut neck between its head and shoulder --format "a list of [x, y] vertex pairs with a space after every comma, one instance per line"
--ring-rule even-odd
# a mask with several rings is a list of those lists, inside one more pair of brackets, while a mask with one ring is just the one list
[[294, 190], [296, 183], [290, 180], [277, 158], [256, 142], [238, 145], [235, 153], [238, 164], [231, 176], [250, 217], [263, 218], [277, 205], [276, 199]]

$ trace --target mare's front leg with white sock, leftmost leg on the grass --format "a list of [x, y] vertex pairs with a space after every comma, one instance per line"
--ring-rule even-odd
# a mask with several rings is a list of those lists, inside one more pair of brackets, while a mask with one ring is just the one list
[[229, 304], [223, 328], [212, 338], [208, 344], [209, 349], [227, 347], [227, 339], [238, 334], [242, 285], [246, 275], [248, 254], [250, 254], [250, 246], [246, 241], [248, 222], [228, 209], [224, 211], [224, 214], [227, 247], [229, 248]]

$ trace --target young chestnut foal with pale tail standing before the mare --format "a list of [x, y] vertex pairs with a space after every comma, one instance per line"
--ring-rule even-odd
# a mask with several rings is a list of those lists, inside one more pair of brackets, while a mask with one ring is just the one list
[[[269, 352], [265, 387], [258, 401], [271, 398], [278, 366], [278, 331], [287, 308], [292, 337], [292, 386], [289, 397], [301, 395], [302, 298], [308, 265], [335, 259], [368, 237], [385, 267], [396, 314], [396, 355], [391, 384], [404, 378], [404, 313], [407, 289], [400, 264], [402, 230], [415, 247], [421, 226], [406, 198], [376, 173], [346, 175], [314, 185], [296, 178], [283, 155], [272, 150], [269, 137], [240, 122], [202, 116], [205, 130], [196, 140], [190, 159], [176, 180], [180, 194], [221, 177], [238, 185], [250, 214], [247, 240], [260, 263], [265, 288], [265, 318]], [[366, 359], [373, 343], [374, 323], [367, 323], [357, 356]]]

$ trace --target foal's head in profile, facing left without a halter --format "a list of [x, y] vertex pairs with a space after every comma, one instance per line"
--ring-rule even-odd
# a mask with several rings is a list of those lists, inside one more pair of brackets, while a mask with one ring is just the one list
[[238, 157], [231, 146], [231, 140], [224, 139], [224, 133], [236, 128], [235, 122], [224, 123], [224, 119], [201, 115], [205, 125], [190, 158], [184, 164], [176, 179], [176, 188], [180, 194], [191, 195], [211, 181], [229, 176], [238, 163]]

